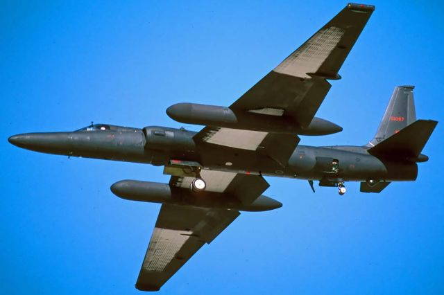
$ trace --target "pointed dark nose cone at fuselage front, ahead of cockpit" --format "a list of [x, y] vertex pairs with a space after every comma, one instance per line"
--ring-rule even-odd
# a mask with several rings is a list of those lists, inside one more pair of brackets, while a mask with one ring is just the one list
[[8, 141], [17, 147], [36, 152], [65, 154], [70, 141], [67, 132], [24, 133], [10, 136]]

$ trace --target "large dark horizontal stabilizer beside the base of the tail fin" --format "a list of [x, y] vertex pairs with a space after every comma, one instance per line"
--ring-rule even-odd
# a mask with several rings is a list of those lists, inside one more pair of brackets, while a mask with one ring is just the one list
[[398, 133], [370, 148], [368, 152], [376, 157], [393, 157], [415, 160], [429, 140], [438, 122], [416, 120]]

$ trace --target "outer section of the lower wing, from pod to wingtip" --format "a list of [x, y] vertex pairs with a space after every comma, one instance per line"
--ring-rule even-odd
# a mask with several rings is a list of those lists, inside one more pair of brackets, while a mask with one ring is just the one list
[[157, 291], [203, 246], [239, 216], [239, 211], [162, 205], [136, 288]]

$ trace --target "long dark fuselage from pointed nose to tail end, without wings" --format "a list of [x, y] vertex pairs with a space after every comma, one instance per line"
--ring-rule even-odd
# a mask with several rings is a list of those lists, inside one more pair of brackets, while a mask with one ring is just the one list
[[[99, 126], [99, 127], [97, 127]], [[101, 127], [105, 126], [105, 127]], [[150, 163], [166, 166], [171, 160], [194, 161], [204, 169], [245, 174], [317, 179], [323, 181], [409, 181], [418, 168], [410, 161], [384, 161], [366, 147], [298, 145], [287, 165], [256, 151], [212, 144], [196, 144], [196, 132], [169, 127], [96, 125], [76, 132], [28, 133], [9, 141], [28, 150], [69, 157]]]

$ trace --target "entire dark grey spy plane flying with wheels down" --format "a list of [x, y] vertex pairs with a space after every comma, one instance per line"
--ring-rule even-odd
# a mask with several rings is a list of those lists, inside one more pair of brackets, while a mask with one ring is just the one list
[[123, 180], [112, 193], [162, 204], [136, 287], [160, 289], [205, 243], [239, 216], [282, 204], [262, 195], [264, 175], [308, 180], [339, 188], [360, 181], [361, 192], [379, 193], [391, 181], [413, 181], [437, 122], [416, 120], [413, 86], [395, 87], [375, 137], [364, 146], [299, 145], [300, 135], [340, 132], [314, 115], [338, 80], [345, 57], [374, 6], [350, 3], [230, 107], [178, 103], [167, 114], [200, 132], [108, 124], [74, 132], [28, 133], [10, 143], [69, 157], [164, 166], [169, 184]]

